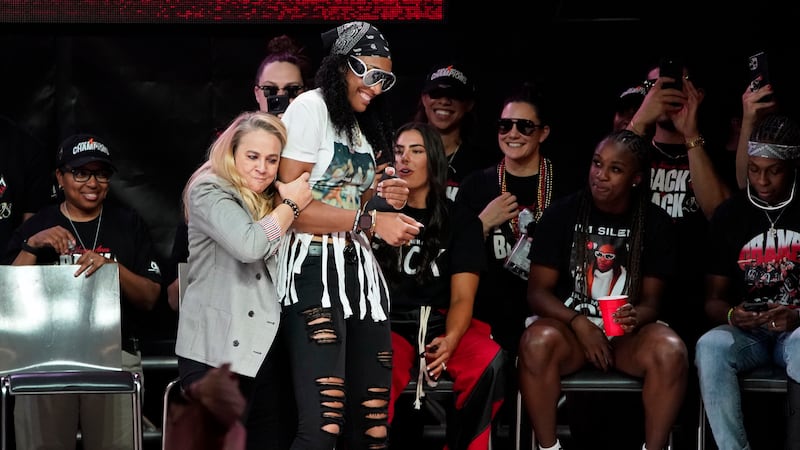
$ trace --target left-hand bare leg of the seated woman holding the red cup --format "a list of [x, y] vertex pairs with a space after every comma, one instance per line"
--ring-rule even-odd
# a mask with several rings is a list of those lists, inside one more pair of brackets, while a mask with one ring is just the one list
[[522, 335], [519, 387], [536, 439], [543, 447], [556, 442], [556, 413], [561, 376], [585, 363], [575, 335], [560, 321], [539, 319]]

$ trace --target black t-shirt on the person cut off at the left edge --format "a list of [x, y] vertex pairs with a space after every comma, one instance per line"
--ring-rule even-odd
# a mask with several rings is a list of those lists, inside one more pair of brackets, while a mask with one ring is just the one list
[[32, 136], [0, 117], [0, 250], [25, 213], [52, 202], [53, 158]]

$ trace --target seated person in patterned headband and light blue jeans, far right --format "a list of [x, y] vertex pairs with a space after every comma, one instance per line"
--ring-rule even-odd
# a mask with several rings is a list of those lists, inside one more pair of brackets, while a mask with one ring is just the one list
[[[786, 368], [789, 415], [782, 448], [796, 450], [800, 125], [779, 113], [764, 115], [749, 136], [747, 154], [747, 187], [711, 219], [705, 310], [717, 326], [697, 341], [695, 366], [708, 423], [723, 450], [750, 448], [738, 375], [772, 364]], [[776, 442], [773, 448], [779, 447]]]

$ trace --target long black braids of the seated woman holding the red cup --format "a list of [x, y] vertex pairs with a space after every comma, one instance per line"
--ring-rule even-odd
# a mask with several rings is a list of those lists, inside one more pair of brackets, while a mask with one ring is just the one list
[[[628, 277], [626, 281], [626, 292], [630, 302], [638, 302], [639, 290], [641, 288], [641, 265], [642, 252], [644, 247], [645, 217], [650, 199], [650, 158], [648, 143], [641, 136], [628, 130], [615, 131], [605, 138], [595, 147], [595, 151], [608, 145], [616, 145], [619, 149], [631, 152], [638, 163], [639, 172], [642, 175], [642, 182], [632, 188], [631, 196], [631, 238], [630, 249], [626, 252], [628, 267]], [[579, 282], [580, 293], [588, 301], [591, 292], [588, 292], [586, 284], [586, 271], [589, 266], [589, 255], [587, 245], [589, 242], [589, 216], [592, 211], [592, 193], [587, 185], [580, 193], [578, 203], [578, 228], [575, 230], [575, 262], [580, 264], [579, 272], [576, 273], [576, 280]], [[580, 261], [580, 263], [578, 263]]]

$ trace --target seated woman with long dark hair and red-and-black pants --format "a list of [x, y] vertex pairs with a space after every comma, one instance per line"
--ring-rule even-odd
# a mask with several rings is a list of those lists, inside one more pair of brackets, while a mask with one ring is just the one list
[[[446, 374], [456, 398], [447, 414], [445, 448], [488, 449], [491, 421], [503, 403], [505, 354], [492, 340], [489, 326], [472, 317], [480, 272], [486, 267], [481, 222], [446, 196], [447, 157], [433, 125], [411, 122], [400, 127], [394, 155], [409, 189], [402, 212], [425, 227], [408, 246], [393, 247], [381, 239], [372, 244], [392, 292], [389, 420], [412, 375], [419, 409], [425, 381], [436, 383]], [[395, 448], [410, 448], [422, 438], [421, 433], [395, 431]]]

